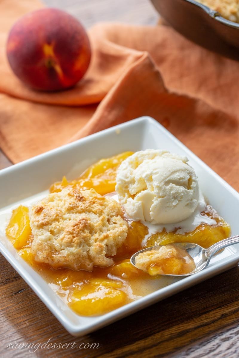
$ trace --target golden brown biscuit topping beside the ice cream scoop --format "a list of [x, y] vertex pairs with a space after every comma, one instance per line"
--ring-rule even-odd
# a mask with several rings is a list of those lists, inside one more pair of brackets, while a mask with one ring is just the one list
[[110, 266], [128, 232], [119, 203], [94, 189], [63, 189], [32, 207], [31, 251], [38, 262], [73, 270]]

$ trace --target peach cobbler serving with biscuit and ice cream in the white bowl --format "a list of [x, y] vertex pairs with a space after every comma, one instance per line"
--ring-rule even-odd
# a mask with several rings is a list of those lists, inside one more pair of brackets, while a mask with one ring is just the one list
[[[148, 149], [101, 159], [75, 180], [64, 176], [13, 210], [6, 235], [73, 311], [89, 316], [170, 284], [163, 272], [191, 272], [193, 260], [173, 244], [207, 248], [229, 237], [230, 226], [205, 202], [186, 157]], [[138, 255], [139, 268], [130, 263], [155, 245], [161, 249]]]

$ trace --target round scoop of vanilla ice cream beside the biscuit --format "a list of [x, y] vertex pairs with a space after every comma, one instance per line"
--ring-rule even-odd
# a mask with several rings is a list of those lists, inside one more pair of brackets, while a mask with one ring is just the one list
[[186, 157], [147, 149], [125, 159], [115, 190], [134, 220], [169, 224], [187, 219], [196, 209], [199, 184]]

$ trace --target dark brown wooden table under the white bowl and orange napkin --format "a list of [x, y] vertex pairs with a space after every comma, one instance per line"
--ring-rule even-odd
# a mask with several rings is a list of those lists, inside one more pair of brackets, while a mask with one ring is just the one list
[[[46, 0], [87, 27], [96, 21], [156, 24], [147, 0]], [[0, 168], [11, 165], [0, 153]], [[0, 257], [0, 357], [239, 356], [239, 268], [235, 267], [95, 333], [74, 338], [64, 330], [9, 263]], [[100, 348], [7, 349], [9, 343], [99, 343]], [[86, 346], [87, 347], [87, 346]], [[34, 350], [34, 349], [33, 349]]]

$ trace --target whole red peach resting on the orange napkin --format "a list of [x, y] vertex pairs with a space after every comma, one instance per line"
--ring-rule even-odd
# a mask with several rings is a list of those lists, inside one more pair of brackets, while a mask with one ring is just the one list
[[25, 84], [57, 91], [82, 78], [91, 49], [77, 19], [62, 10], [46, 8], [24, 15], [13, 25], [7, 56], [13, 72]]

